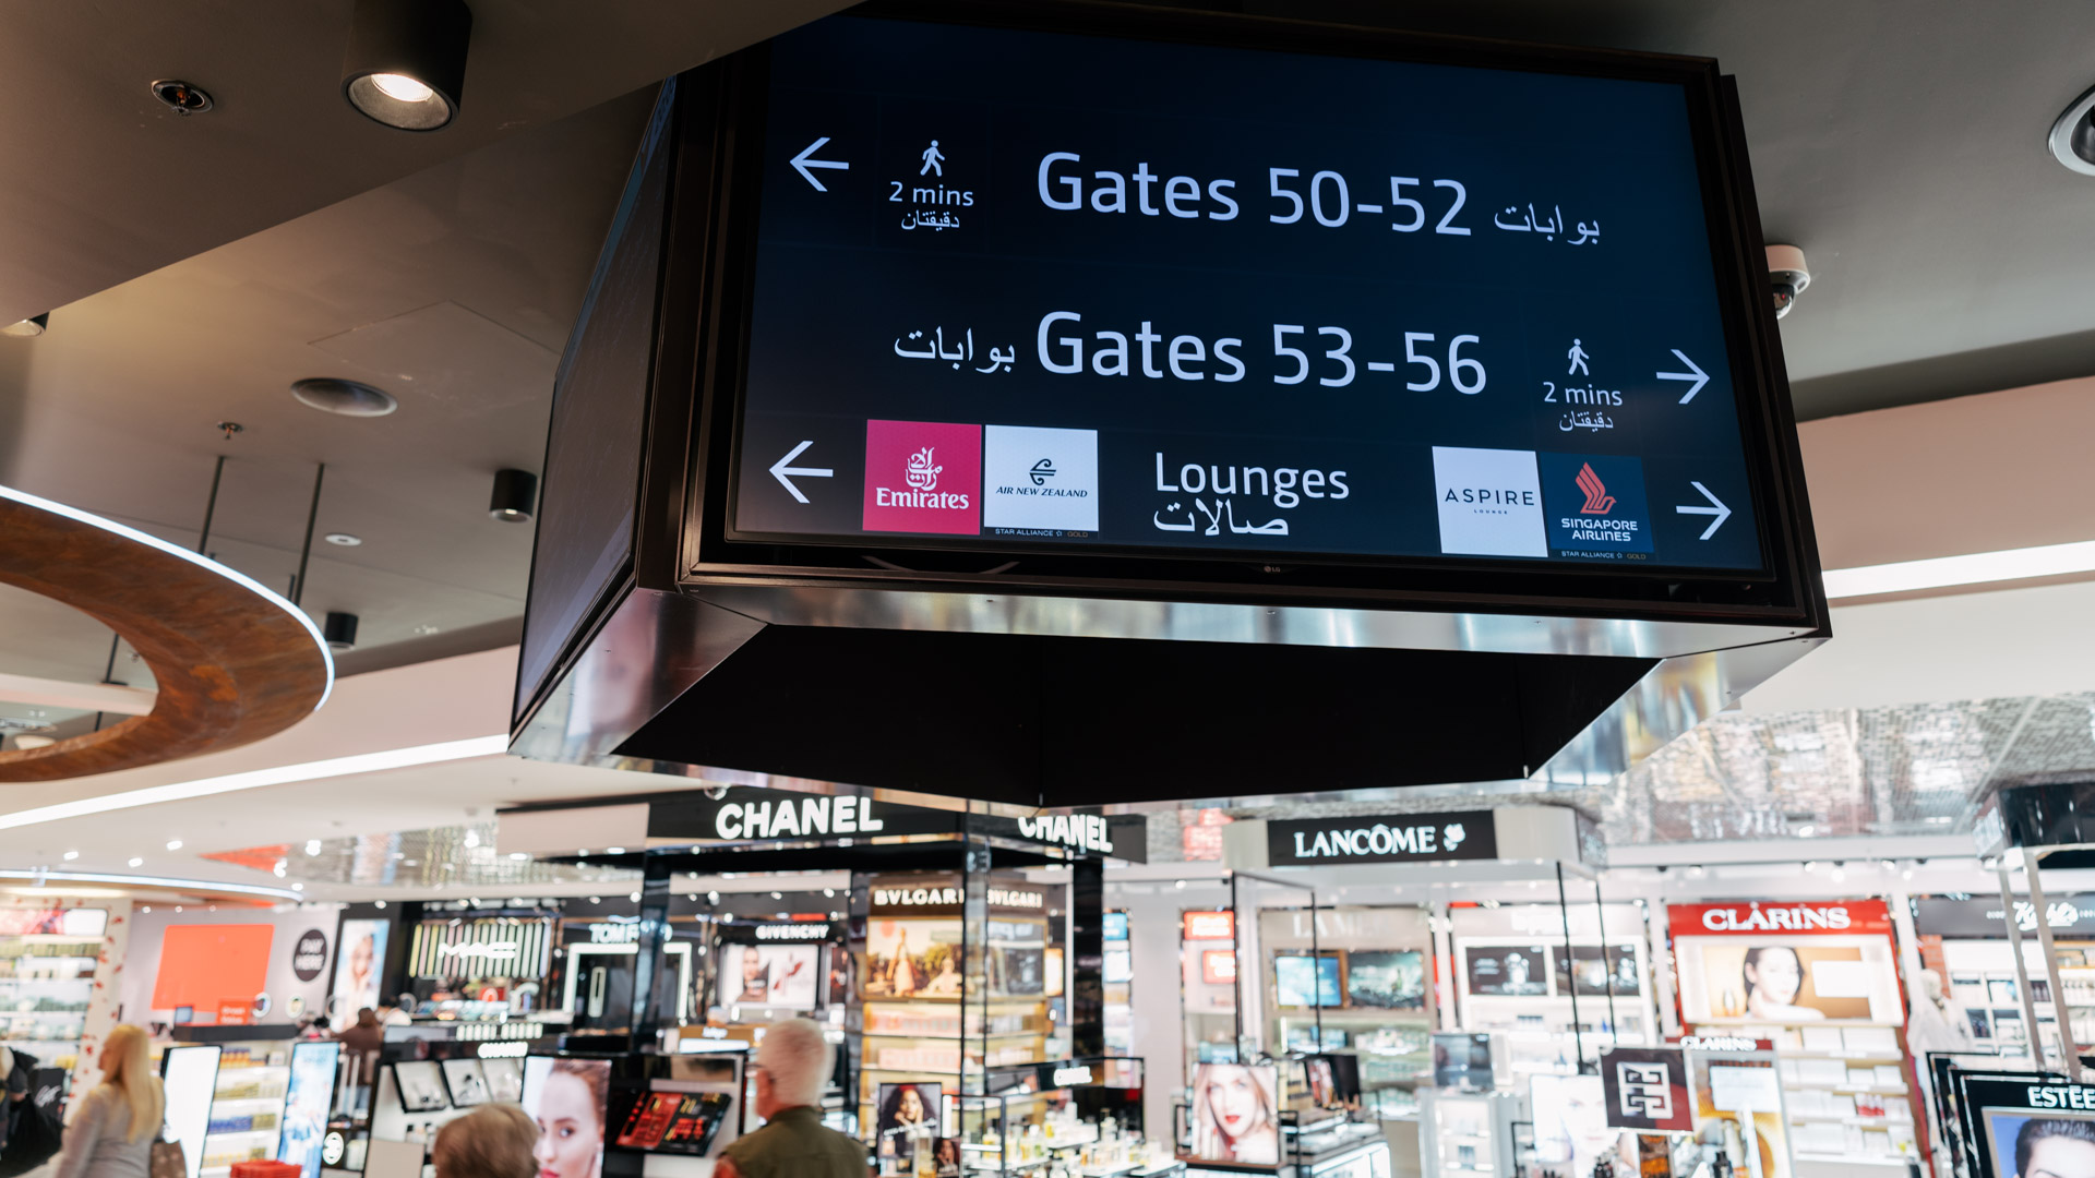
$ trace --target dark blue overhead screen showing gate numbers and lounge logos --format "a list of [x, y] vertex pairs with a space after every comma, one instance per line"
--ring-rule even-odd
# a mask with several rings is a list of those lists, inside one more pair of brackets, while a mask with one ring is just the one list
[[729, 541], [1770, 568], [1693, 78], [777, 38]]

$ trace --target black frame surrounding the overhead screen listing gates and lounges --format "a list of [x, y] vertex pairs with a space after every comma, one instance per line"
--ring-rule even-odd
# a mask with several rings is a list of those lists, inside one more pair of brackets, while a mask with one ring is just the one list
[[[1724, 616], [1743, 623], [1821, 620], [1816, 551], [1804, 501], [1802, 461], [1789, 409], [1787, 375], [1774, 335], [1774, 319], [1764, 277], [1758, 210], [1739, 130], [1735, 90], [1707, 59], [1630, 54], [1584, 48], [1521, 46], [1473, 38], [1439, 38], [1276, 21], [1209, 13], [1140, 13], [1110, 4], [1075, 0], [1024, 0], [980, 8], [949, 0], [897, 0], [853, 10], [855, 17], [895, 17], [1039, 31], [1148, 38], [1240, 48], [1280, 48], [1337, 57], [1381, 57], [1437, 61], [1498, 69], [1529, 69], [1601, 78], [1674, 82], [1689, 101], [1703, 182], [1703, 214], [1712, 241], [1716, 296], [1724, 321], [1726, 363], [1735, 377], [1741, 442], [1754, 484], [1760, 526], [1760, 572], [1649, 570], [1588, 566], [1521, 566], [1506, 560], [1464, 558], [1358, 558], [1288, 555], [1274, 564], [1263, 553], [1213, 555], [1083, 551], [1054, 545], [1052, 551], [1001, 545], [989, 537], [968, 537], [964, 545], [865, 537], [857, 541], [769, 543], [737, 539], [731, 530], [731, 501], [737, 463], [740, 400], [746, 388], [748, 314], [756, 258], [756, 216], [760, 195], [760, 149], [765, 128], [767, 48], [756, 46], [712, 78], [716, 92], [696, 96], [693, 107], [719, 117], [714, 157], [704, 176], [723, 199], [704, 245], [712, 298], [700, 314], [704, 327], [696, 352], [700, 405], [689, 417], [687, 442], [675, 444], [660, 432], [656, 455], [681, 457], [685, 501], [675, 518], [658, 520], [656, 541], [679, 553], [683, 583], [777, 585], [775, 579], [832, 585], [838, 589], [949, 589], [995, 585], [1006, 593], [1048, 595], [1121, 593], [1165, 599], [1351, 604], [1370, 608], [1416, 608], [1446, 602], [1467, 606], [1479, 597], [1500, 597], [1504, 606], [1536, 599], [1584, 606], [1605, 616], [1699, 618]], [[696, 247], [696, 245], [693, 245]], [[693, 308], [698, 310], [698, 308]], [[658, 419], [658, 430], [672, 421]], [[679, 438], [681, 440], [681, 438]], [[679, 455], [681, 451], [681, 455]], [[675, 461], [675, 459], [672, 459]], [[641, 545], [647, 549], [649, 528]], [[983, 574], [999, 558], [995, 576]], [[647, 560], [641, 562], [643, 566]], [[1404, 587], [1391, 587], [1391, 572], [1404, 570]], [[1712, 614], [1714, 612], [1714, 614]]]

